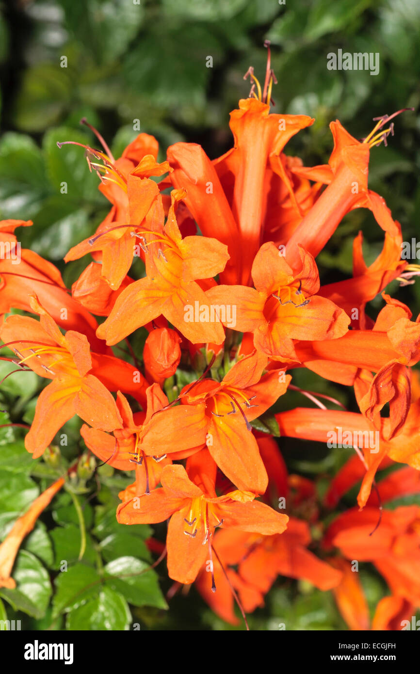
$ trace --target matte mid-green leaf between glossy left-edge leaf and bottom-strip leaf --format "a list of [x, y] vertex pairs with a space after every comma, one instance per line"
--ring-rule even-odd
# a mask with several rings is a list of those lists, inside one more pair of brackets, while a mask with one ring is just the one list
[[54, 581], [53, 616], [82, 606], [98, 594], [100, 576], [90, 566], [78, 563], [61, 572]]

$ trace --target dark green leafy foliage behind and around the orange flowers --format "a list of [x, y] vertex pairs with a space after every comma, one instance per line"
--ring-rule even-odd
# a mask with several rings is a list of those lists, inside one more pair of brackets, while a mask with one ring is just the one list
[[[243, 74], [253, 65], [257, 76], [264, 78], [265, 39], [272, 42], [272, 67], [278, 79], [274, 111], [316, 118], [313, 127], [287, 146], [287, 153], [299, 154], [305, 165], [328, 160], [330, 121], [340, 119], [361, 138], [373, 127], [373, 117], [415, 108], [396, 119], [388, 148], [371, 152], [369, 168], [369, 186], [384, 196], [402, 224], [404, 239], [411, 241], [418, 235], [420, 219], [419, 0], [0, 2], [0, 218], [34, 220], [32, 228], [18, 231], [22, 246], [51, 259], [70, 286], [86, 262], [65, 266], [62, 257], [94, 231], [109, 205], [97, 189], [96, 175], [88, 171], [82, 148], [59, 150], [57, 141], [97, 146], [89, 129], [80, 127], [80, 119], [87, 117], [120, 156], [137, 135], [133, 127], [138, 121], [141, 131], [158, 138], [162, 158], [167, 146], [179, 140], [202, 144], [214, 158], [231, 147], [229, 112], [249, 92]], [[378, 52], [379, 74], [328, 71], [327, 54], [337, 49]], [[212, 67], [206, 67], [209, 56]], [[63, 181], [68, 185], [65, 195], [60, 193]], [[382, 231], [369, 212], [353, 211], [318, 257], [322, 282], [351, 275], [351, 246], [360, 228], [367, 261], [378, 254]], [[418, 284], [399, 289], [396, 282], [391, 288], [399, 299], [414, 305], [415, 315], [417, 288]], [[382, 299], [371, 305], [368, 311], [376, 315]], [[30, 379], [32, 375], [24, 376], [20, 382], [20, 375], [13, 375], [2, 385], [1, 407], [9, 410], [5, 423], [32, 419], [39, 383], [36, 377]], [[307, 370], [297, 371], [294, 383], [354, 406], [348, 390]], [[287, 396], [290, 407], [306, 403], [298, 392]], [[80, 453], [78, 429], [76, 420], [64, 429], [69, 437], [63, 459], [67, 464]], [[1, 429], [0, 446], [2, 538], [39, 488], [49, 484], [47, 477], [61, 474], [63, 466], [42, 459], [32, 462], [17, 429]], [[308, 450], [300, 441], [282, 439], [281, 446], [290, 470], [315, 478], [320, 495], [330, 476], [351, 456], [351, 450], [328, 452], [322, 446]], [[130, 586], [109, 580], [109, 574], [150, 563], [144, 545], [150, 530], [126, 534], [115, 529], [117, 493], [130, 480], [107, 468], [96, 474], [101, 489], [94, 501], [92, 494], [84, 496], [93, 489], [86, 492], [80, 485], [73, 495], [63, 493], [26, 539], [18, 559], [18, 590], [0, 592], [5, 599], [5, 604], [0, 599], [0, 618], [7, 605], [9, 619], [23, 619], [25, 628], [121, 630], [138, 620], [142, 629], [232, 629], [204, 607], [194, 590], [175, 596], [171, 611], [164, 611], [155, 572], [139, 576]], [[82, 521], [75, 494], [83, 503]], [[354, 503], [351, 493], [342, 505]], [[82, 529], [86, 553], [77, 564]], [[61, 559], [74, 564], [71, 574], [57, 574]], [[159, 575], [163, 590], [168, 590], [171, 582], [164, 572]], [[140, 578], [147, 578], [147, 589]], [[373, 613], [386, 588], [369, 565], [363, 565], [361, 581]], [[96, 588], [92, 594], [80, 605], [71, 603], [73, 589], [88, 584]], [[104, 615], [111, 627], [101, 622]], [[277, 584], [266, 607], [249, 622], [256, 630], [278, 630], [282, 622], [287, 630], [344, 628], [330, 593], [287, 579]]]

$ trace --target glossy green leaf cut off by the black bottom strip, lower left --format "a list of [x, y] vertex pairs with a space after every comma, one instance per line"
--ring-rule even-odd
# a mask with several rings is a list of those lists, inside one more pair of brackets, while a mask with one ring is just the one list
[[73, 609], [67, 615], [67, 630], [129, 630], [131, 613], [127, 602], [111, 590], [102, 588], [96, 599]]

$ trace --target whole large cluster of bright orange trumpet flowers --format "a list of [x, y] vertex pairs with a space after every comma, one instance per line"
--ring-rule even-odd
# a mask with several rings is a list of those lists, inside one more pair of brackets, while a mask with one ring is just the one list
[[[65, 256], [89, 255], [71, 293], [33, 251], [20, 251], [18, 269], [1, 259], [0, 311], [21, 310], [4, 319], [1, 340], [20, 367], [49, 380], [26, 449], [42, 455], [78, 415], [88, 450], [133, 471], [118, 522], [167, 521], [169, 577], [196, 582], [232, 623], [234, 599], [253, 611], [280, 574], [332, 590], [349, 627], [367, 629], [351, 568], [360, 560], [390, 587], [373, 628], [396, 629], [420, 605], [420, 508], [382, 512], [382, 504], [420, 491], [420, 386], [411, 370], [420, 324], [384, 293], [415, 272], [401, 259], [400, 224], [367, 184], [371, 148], [386, 144], [394, 115], [361, 141], [332, 122], [328, 164], [308, 168], [284, 148], [314, 120], [270, 111], [269, 68], [264, 86], [252, 69], [247, 75], [251, 94], [231, 113], [233, 148], [214, 160], [178, 142], [159, 162], [146, 133], [115, 159], [95, 131], [102, 150], [86, 146], [86, 158], [111, 210]], [[373, 213], [382, 251], [367, 265], [360, 233], [352, 278], [323, 285], [315, 258], [355, 208]], [[1, 240], [13, 249], [15, 228], [30, 224], [1, 222]], [[129, 276], [133, 259], [138, 280]], [[379, 293], [373, 319], [365, 307]], [[130, 339], [141, 328], [138, 361]], [[297, 390], [297, 368], [352, 388], [359, 412], [328, 409], [305, 391], [310, 406], [288, 409], [282, 400]], [[334, 433], [335, 446], [346, 441], [355, 455], [321, 504], [313, 482], [288, 474], [273, 436], [333, 447]], [[394, 462], [407, 465], [377, 484], [378, 468]], [[320, 505], [332, 510], [360, 481], [359, 509], [324, 531]], [[317, 555], [308, 549], [314, 532]], [[13, 586], [7, 559], [0, 581]]]

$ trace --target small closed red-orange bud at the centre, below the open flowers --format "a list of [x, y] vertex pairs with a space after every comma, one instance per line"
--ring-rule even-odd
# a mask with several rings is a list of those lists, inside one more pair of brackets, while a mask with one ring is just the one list
[[144, 368], [149, 381], [162, 384], [175, 373], [181, 360], [181, 337], [170, 328], [156, 328], [144, 344]]

